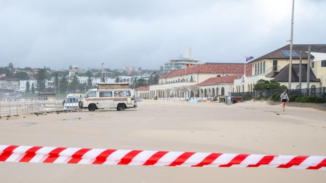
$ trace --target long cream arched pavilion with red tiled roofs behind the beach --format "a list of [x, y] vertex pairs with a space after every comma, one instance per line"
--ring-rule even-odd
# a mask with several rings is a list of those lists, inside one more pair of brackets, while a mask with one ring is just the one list
[[[243, 63], [204, 63], [173, 70], [160, 76], [158, 84], [140, 88], [138, 97], [224, 96], [234, 91], [233, 81], [243, 73]], [[251, 67], [246, 73], [251, 74]]]

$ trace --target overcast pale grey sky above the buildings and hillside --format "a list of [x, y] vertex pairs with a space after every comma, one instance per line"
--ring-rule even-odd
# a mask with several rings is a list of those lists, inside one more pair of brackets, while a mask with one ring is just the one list
[[[193, 48], [243, 62], [290, 39], [292, 0], [0, 0], [0, 65], [159, 68]], [[294, 43], [326, 43], [326, 0], [295, 0]]]

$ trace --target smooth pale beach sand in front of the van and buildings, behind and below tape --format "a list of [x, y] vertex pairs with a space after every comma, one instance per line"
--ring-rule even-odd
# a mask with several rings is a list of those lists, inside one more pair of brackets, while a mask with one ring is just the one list
[[[78, 119], [78, 118], [81, 119]], [[0, 144], [326, 155], [326, 112], [143, 100], [135, 109], [0, 119]], [[0, 182], [324, 182], [326, 171], [0, 162]]]

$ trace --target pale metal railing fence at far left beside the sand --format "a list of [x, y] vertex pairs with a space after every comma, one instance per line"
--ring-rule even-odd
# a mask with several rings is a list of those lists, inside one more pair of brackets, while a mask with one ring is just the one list
[[0, 97], [0, 116], [62, 110], [64, 109], [63, 99], [39, 100], [38, 97]]

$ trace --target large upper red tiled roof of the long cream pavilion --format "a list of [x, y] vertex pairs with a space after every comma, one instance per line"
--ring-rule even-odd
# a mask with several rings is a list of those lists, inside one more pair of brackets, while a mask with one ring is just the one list
[[[187, 69], [187, 70], [186, 70]], [[251, 66], [246, 67], [246, 72], [251, 75]], [[159, 78], [185, 75], [189, 73], [244, 73], [243, 63], [204, 63], [187, 68], [173, 70]]]

